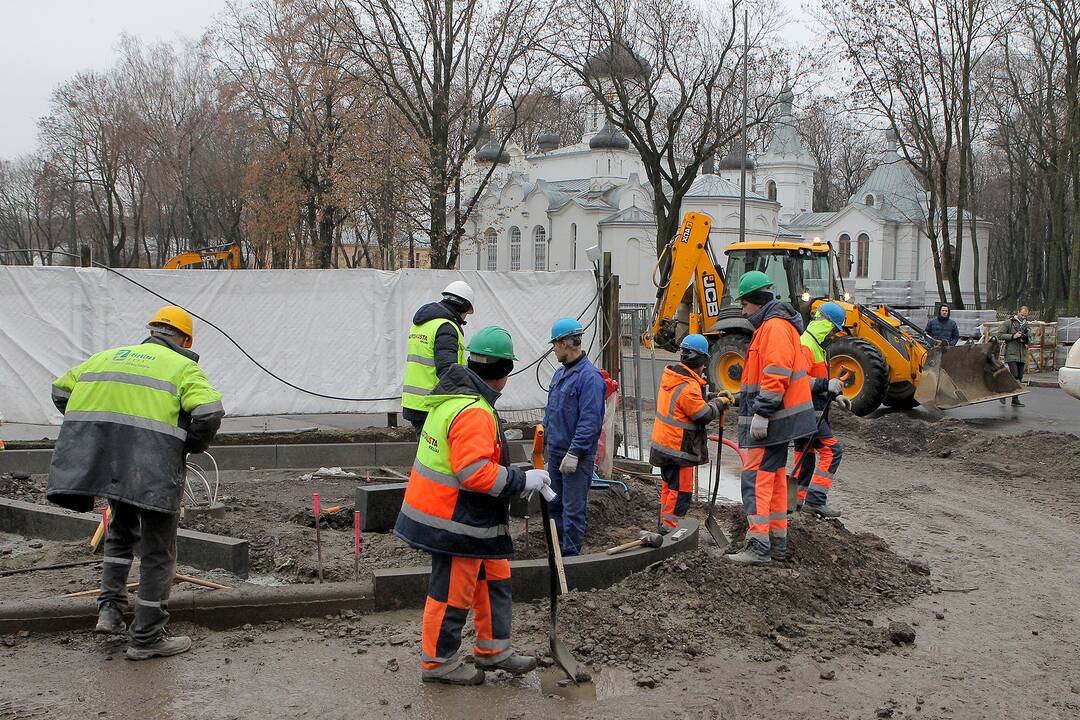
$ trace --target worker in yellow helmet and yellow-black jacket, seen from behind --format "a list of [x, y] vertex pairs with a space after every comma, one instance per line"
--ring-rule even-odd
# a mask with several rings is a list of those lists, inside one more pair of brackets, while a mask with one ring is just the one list
[[141, 344], [93, 355], [53, 382], [64, 413], [49, 467], [46, 497], [86, 512], [109, 501], [96, 633], [124, 633], [127, 573], [139, 547], [139, 585], [129, 660], [191, 648], [168, 637], [168, 594], [176, 578], [176, 524], [188, 453], [210, 447], [225, 410], [191, 352], [191, 315], [166, 307]]

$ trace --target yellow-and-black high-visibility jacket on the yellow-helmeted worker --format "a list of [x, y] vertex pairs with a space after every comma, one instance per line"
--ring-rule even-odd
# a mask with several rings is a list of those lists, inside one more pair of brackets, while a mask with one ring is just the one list
[[82, 512], [95, 497], [179, 511], [186, 456], [225, 415], [199, 355], [160, 337], [93, 355], [53, 382], [53, 402], [64, 424], [46, 497]]

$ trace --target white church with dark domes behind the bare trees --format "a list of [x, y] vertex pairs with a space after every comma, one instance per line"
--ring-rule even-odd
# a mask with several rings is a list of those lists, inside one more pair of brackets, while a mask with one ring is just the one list
[[[599, 70], [603, 72], [603, 69]], [[818, 165], [802, 147], [792, 121], [794, 96], [780, 96], [780, 119], [764, 154], [747, 159], [746, 239], [828, 241], [837, 249], [846, 288], [862, 302], [895, 303], [897, 287], [907, 304], [936, 298], [933, 256], [923, 228], [927, 193], [886, 137], [880, 160], [866, 182], [835, 213], [813, 213]], [[470, 219], [459, 268], [492, 272], [558, 272], [591, 267], [590, 247], [611, 254], [621, 302], [652, 303], [657, 262], [652, 190], [630, 141], [605, 121], [598, 103], [591, 127], [573, 145], [556, 135], [539, 138], [539, 154], [499, 142], [481, 145], [474, 173], [495, 171]], [[710, 242], [717, 258], [739, 239], [741, 159], [729, 155], [705, 165], [683, 200], [681, 213], [713, 218]], [[972, 274], [967, 240], [961, 279]], [[986, 287], [990, 223], [976, 222], [980, 284]], [[721, 261], [723, 262], [723, 261]], [[880, 281], [904, 281], [882, 283]], [[888, 286], [888, 288], [886, 287]]]

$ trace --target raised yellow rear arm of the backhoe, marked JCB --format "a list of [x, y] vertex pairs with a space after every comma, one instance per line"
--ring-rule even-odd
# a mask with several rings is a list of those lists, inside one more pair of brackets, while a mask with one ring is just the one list
[[643, 342], [672, 352], [689, 332], [710, 327], [720, 314], [724, 274], [708, 249], [713, 219], [687, 213], [678, 234], [664, 248], [658, 263], [657, 303]]

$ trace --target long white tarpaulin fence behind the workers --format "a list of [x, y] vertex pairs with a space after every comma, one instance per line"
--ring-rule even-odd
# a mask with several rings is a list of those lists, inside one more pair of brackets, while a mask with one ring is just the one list
[[[591, 271], [458, 272], [454, 270], [120, 270], [210, 320], [262, 365], [307, 390], [345, 397], [401, 394], [413, 313], [464, 280], [476, 291], [477, 328], [501, 325], [514, 338], [521, 368], [550, 345], [551, 324], [596, 312]], [[50, 399], [53, 379], [95, 352], [147, 337], [146, 322], [163, 302], [106, 270], [0, 267], [0, 417], [59, 423]], [[589, 328], [586, 342], [595, 326]], [[397, 399], [341, 402], [274, 380], [232, 343], [195, 321], [193, 350], [221, 391], [231, 416], [392, 412]], [[595, 350], [594, 350], [595, 354]], [[551, 366], [540, 377], [546, 386]], [[500, 408], [543, 407], [534, 369], [510, 379]]]

